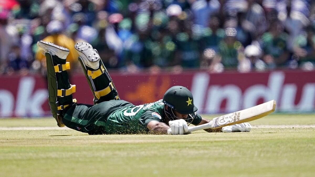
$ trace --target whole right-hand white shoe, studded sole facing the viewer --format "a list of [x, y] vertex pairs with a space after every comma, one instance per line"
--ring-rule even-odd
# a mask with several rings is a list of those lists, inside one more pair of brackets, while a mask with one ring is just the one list
[[82, 58], [85, 66], [88, 66], [94, 70], [99, 69], [100, 55], [97, 53], [95, 49], [92, 48], [91, 44], [80, 42], [74, 45], [74, 48], [77, 49], [77, 52]]

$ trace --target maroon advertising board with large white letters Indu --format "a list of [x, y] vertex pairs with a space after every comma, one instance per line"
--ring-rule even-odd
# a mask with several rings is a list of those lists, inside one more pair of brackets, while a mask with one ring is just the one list
[[[315, 71], [112, 73], [111, 77], [120, 98], [135, 105], [160, 100], [169, 87], [182, 85], [192, 91], [200, 114], [228, 113], [273, 99], [277, 111], [315, 110]], [[0, 76], [0, 81], [0, 117], [50, 116], [45, 78]], [[70, 83], [77, 85], [73, 98], [93, 103], [83, 74], [72, 73]]]

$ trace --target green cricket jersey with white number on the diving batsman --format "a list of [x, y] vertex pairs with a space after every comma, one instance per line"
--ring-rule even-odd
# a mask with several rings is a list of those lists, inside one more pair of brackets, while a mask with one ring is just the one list
[[[164, 103], [162, 100], [139, 105], [127, 106], [114, 111], [107, 118], [105, 129], [107, 134], [141, 134], [148, 133], [146, 125], [151, 121], [163, 122]], [[201, 117], [196, 115], [192, 124], [201, 122]]]

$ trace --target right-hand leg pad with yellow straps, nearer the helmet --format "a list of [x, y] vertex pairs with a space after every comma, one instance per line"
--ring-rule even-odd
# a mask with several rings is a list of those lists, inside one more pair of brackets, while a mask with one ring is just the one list
[[[94, 50], [97, 52], [96, 49]], [[86, 66], [81, 57], [79, 57], [78, 60], [81, 63], [83, 72], [89, 83], [89, 87], [94, 95], [94, 104], [108, 100], [119, 100], [117, 89], [102, 60], [99, 60], [100, 65], [97, 70]]]

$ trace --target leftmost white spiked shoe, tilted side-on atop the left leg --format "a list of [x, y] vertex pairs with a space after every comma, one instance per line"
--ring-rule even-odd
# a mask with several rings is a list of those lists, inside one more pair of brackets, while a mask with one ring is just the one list
[[56, 55], [57, 57], [61, 59], [66, 59], [70, 50], [61, 46], [58, 46], [51, 42], [46, 41], [38, 41], [37, 46], [43, 50], [43, 55], [45, 55], [46, 52], [50, 53], [51, 55]]

